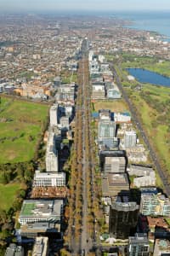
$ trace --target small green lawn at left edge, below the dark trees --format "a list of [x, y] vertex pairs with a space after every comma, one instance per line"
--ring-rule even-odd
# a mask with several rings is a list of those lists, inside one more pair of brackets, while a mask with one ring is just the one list
[[0, 184], [0, 195], [2, 210], [8, 211], [15, 201], [16, 192], [21, 189], [20, 183], [8, 183], [7, 185]]

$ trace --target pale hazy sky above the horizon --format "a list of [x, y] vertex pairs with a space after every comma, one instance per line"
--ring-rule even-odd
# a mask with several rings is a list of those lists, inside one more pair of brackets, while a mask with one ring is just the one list
[[0, 11], [170, 10], [170, 0], [0, 0]]

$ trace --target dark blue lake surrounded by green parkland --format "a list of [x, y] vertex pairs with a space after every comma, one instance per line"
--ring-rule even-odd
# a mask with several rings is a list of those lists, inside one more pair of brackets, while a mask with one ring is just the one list
[[170, 87], [170, 78], [143, 68], [127, 68], [127, 71], [140, 83], [156, 84]]

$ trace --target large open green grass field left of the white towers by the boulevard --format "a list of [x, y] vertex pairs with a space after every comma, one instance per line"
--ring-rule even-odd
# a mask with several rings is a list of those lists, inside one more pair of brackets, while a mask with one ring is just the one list
[[47, 117], [48, 106], [1, 97], [0, 164], [31, 160]]

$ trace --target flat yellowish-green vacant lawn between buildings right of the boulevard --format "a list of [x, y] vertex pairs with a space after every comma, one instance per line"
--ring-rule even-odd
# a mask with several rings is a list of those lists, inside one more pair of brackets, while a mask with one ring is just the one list
[[99, 109], [111, 109], [112, 112], [127, 112], [127, 104], [124, 100], [113, 100], [113, 101], [96, 101], [94, 102], [94, 110]]

